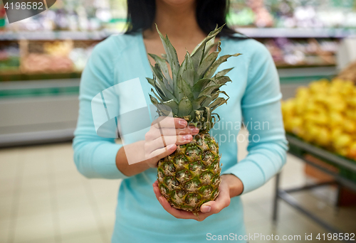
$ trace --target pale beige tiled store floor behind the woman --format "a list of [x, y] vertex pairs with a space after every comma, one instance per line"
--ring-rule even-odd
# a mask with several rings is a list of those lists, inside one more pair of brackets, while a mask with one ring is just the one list
[[[241, 144], [240, 158], [246, 155], [244, 148], [246, 144]], [[0, 242], [110, 242], [120, 181], [88, 180], [76, 171], [72, 157], [71, 144], [0, 150]], [[308, 181], [303, 166], [298, 158], [288, 156], [283, 187]], [[274, 179], [242, 197], [248, 232], [299, 234], [302, 242], [305, 233], [313, 237], [327, 233], [284, 202], [280, 202], [278, 226], [273, 227], [273, 185]], [[297, 193], [295, 198], [344, 232], [355, 232], [356, 209], [335, 210], [333, 188]]]

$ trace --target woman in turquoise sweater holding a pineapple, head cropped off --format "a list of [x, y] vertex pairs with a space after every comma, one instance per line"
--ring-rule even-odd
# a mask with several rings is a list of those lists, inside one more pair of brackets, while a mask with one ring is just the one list
[[[151, 87], [145, 77], [152, 77], [152, 72], [147, 53], [164, 53], [155, 23], [169, 36], [182, 62], [186, 49], [192, 53], [216, 24], [224, 24], [226, 10], [225, 0], [129, 0], [130, 30], [124, 35], [111, 36], [93, 50], [80, 83], [74, 160], [78, 171], [88, 178], [123, 179], [112, 242], [206, 242], [219, 235], [246, 242], [239, 195], [266, 183], [286, 162], [281, 92], [271, 55], [261, 43], [227, 27], [219, 36], [220, 55], [244, 55], [224, 63], [224, 68], [234, 67], [228, 74], [232, 83], [224, 87], [230, 99], [227, 105], [216, 110], [222, 117], [223, 126], [212, 130], [219, 138], [222, 155], [221, 193], [215, 201], [201, 206], [199, 218], [172, 208], [160, 195], [155, 182], [159, 158], [173, 153], [176, 144], [192, 141], [197, 129], [187, 126], [183, 119], [174, 119], [174, 125], [169, 129], [174, 131], [173, 134], [178, 134], [176, 129], [184, 132], [172, 135], [177, 142], [167, 144], [166, 148], [155, 146], [155, 126], [147, 131], [145, 139], [125, 141], [125, 148], [115, 144], [114, 139], [105, 139], [96, 133], [91, 102], [103, 90], [139, 77], [144, 102], [150, 104], [148, 93]], [[132, 97], [137, 96], [135, 87], [118, 90], [117, 95], [120, 107], [124, 109], [133, 106], [130, 102], [135, 103]], [[123, 117], [117, 119], [120, 121]], [[241, 124], [242, 119], [250, 133], [246, 138], [249, 141], [248, 156], [237, 163], [236, 138], [240, 126], [236, 124]], [[228, 128], [230, 122], [234, 126]], [[128, 156], [139, 161], [143, 159], [140, 163], [129, 163]]]

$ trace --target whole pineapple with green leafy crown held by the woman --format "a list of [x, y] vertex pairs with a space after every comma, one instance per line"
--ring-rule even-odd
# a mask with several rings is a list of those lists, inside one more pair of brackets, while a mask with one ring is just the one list
[[[208, 132], [219, 119], [219, 115], [212, 112], [229, 99], [219, 88], [231, 82], [225, 75], [232, 68], [214, 73], [227, 58], [240, 55], [217, 58], [221, 43], [215, 43], [215, 37], [223, 27], [211, 31], [192, 54], [187, 52], [182, 65], [168, 37], [162, 36], [157, 28], [166, 54], [162, 58], [149, 54], [156, 62], [155, 66], [151, 65], [153, 79], [147, 78], [155, 87], [151, 90], [155, 97], [150, 95], [150, 99], [159, 116], [169, 116], [172, 112], [173, 117], [183, 118], [199, 128], [199, 134], [189, 144], [177, 146], [174, 153], [159, 161], [157, 168], [158, 186], [164, 198], [172, 207], [194, 215], [204, 202], [215, 200], [219, 195], [221, 156], [218, 144]], [[210, 53], [216, 44], [217, 50]]]

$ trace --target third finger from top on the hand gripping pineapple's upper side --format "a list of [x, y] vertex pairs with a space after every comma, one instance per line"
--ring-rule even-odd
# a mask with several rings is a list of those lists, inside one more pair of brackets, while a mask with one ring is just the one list
[[164, 148], [166, 144], [188, 144], [190, 141], [193, 140], [192, 135], [184, 135], [184, 136], [161, 136], [158, 139], [150, 141], [147, 143], [146, 151], [147, 153], [152, 153], [153, 151]]

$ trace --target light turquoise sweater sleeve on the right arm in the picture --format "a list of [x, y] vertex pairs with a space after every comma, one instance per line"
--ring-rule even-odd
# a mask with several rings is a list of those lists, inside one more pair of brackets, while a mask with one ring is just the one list
[[244, 193], [261, 187], [286, 163], [288, 143], [283, 129], [281, 91], [271, 54], [256, 45], [248, 65], [248, 81], [241, 100], [244, 124], [248, 129], [248, 156], [224, 174], [236, 175]]

